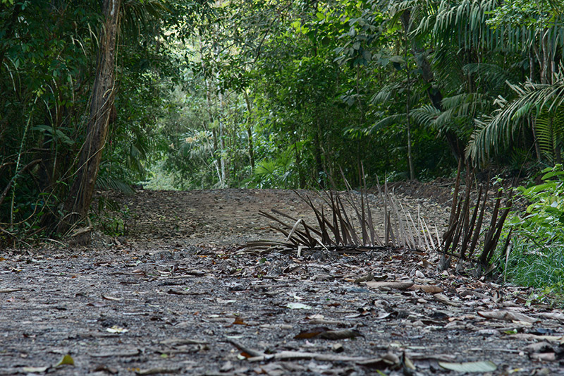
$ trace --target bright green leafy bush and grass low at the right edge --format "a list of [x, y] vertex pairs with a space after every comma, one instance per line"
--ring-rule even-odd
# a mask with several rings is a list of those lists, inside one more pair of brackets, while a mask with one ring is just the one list
[[564, 170], [557, 164], [542, 172], [541, 184], [517, 188], [529, 205], [506, 224], [513, 231], [513, 248], [505, 276], [564, 295]]

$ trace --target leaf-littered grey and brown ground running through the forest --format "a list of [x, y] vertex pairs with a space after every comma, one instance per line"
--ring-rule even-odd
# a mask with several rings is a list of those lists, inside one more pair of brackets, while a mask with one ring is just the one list
[[[396, 188], [442, 234], [449, 184]], [[316, 223], [298, 194], [323, 205], [290, 190], [100, 193], [115, 210], [94, 229], [2, 250], [0, 375], [564, 375], [561, 310], [439, 271], [435, 250], [245, 248], [286, 238], [261, 210]]]

